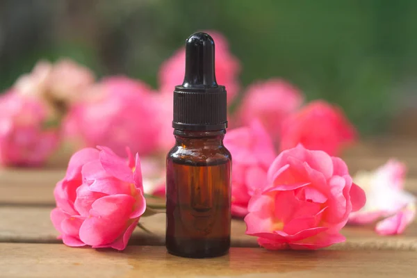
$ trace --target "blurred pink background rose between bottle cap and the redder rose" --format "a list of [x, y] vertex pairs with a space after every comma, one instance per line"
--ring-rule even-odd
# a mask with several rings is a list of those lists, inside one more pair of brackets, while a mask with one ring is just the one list
[[304, 95], [282, 79], [269, 79], [250, 85], [237, 113], [237, 122], [249, 124], [252, 119], [261, 120], [270, 136], [277, 140], [282, 121], [300, 108]]

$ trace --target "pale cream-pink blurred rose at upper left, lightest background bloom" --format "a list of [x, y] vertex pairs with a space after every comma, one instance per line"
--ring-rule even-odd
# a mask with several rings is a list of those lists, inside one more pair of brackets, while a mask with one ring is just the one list
[[95, 75], [87, 67], [63, 58], [54, 64], [41, 60], [30, 74], [17, 79], [15, 88], [22, 95], [51, 102], [51, 105], [57, 101], [72, 104], [81, 99], [85, 88], [94, 81]]

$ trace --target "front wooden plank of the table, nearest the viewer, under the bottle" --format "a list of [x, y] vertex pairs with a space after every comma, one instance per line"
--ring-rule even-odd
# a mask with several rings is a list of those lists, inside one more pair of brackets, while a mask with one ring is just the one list
[[270, 252], [231, 248], [212, 259], [167, 254], [165, 247], [132, 246], [124, 252], [63, 245], [0, 244], [2, 277], [416, 277], [417, 252]]

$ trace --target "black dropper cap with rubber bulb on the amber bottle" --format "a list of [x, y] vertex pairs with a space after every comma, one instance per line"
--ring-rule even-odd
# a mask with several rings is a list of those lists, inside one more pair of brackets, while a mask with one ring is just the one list
[[194, 33], [186, 40], [186, 74], [174, 90], [174, 129], [215, 131], [227, 128], [226, 88], [215, 81], [214, 40]]

